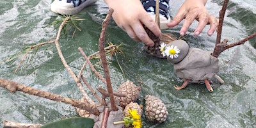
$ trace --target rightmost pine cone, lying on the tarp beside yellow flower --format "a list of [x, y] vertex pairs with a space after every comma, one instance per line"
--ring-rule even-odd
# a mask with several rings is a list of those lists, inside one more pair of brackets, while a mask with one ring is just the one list
[[146, 95], [145, 100], [145, 116], [147, 120], [150, 122], [163, 123], [168, 116], [168, 111], [162, 100], [153, 95]]

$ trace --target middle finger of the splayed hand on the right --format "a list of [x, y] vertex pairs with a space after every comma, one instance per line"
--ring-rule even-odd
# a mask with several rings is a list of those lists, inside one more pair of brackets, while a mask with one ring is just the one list
[[198, 26], [195, 29], [195, 35], [198, 36], [203, 31], [205, 26], [208, 24], [209, 14], [207, 12], [198, 15]]

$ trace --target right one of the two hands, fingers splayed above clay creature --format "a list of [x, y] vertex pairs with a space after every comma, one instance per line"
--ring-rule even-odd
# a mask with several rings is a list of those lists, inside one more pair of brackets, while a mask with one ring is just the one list
[[180, 35], [184, 36], [188, 31], [189, 26], [196, 19], [199, 21], [194, 34], [200, 35], [207, 24], [210, 24], [209, 31], [207, 34], [211, 36], [218, 26], [218, 19], [210, 15], [205, 8], [207, 0], [186, 0], [179, 9], [177, 15], [171, 22], [167, 24], [168, 27], [174, 27], [184, 20], [182, 28], [180, 29]]

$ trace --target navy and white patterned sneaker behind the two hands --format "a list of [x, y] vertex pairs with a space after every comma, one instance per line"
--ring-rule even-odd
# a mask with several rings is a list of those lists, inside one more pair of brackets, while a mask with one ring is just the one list
[[[160, 29], [168, 29], [168, 26], [166, 26], [166, 24], [171, 21], [169, 1], [170, 0], [159, 1]], [[142, 4], [145, 10], [150, 14], [152, 19], [156, 21], [156, 1], [142, 0]]]

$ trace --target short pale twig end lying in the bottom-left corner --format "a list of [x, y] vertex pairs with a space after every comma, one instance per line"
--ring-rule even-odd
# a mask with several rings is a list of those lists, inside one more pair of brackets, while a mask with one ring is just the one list
[[24, 124], [24, 123], [10, 122], [10, 121], [4, 120], [4, 127], [39, 128], [42, 126], [43, 126], [42, 124]]

